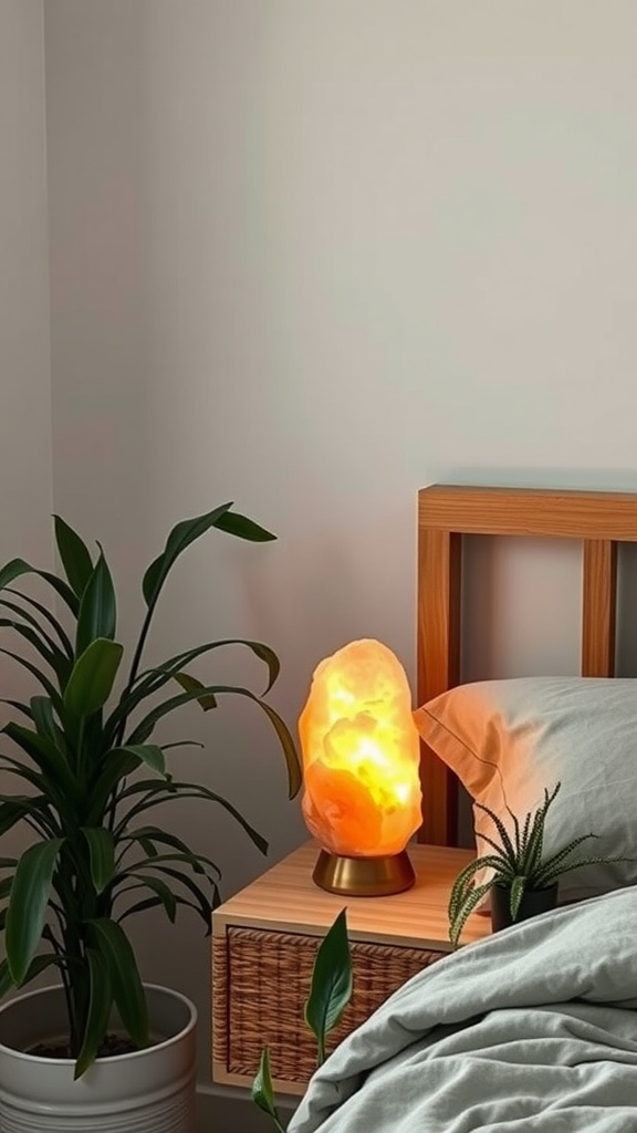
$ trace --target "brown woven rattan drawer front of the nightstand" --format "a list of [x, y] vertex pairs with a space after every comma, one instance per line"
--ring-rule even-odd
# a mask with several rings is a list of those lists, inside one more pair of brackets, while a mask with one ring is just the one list
[[[253, 1077], [264, 1045], [273, 1077], [305, 1083], [316, 1045], [304, 1004], [320, 938], [229, 928], [213, 942], [213, 1054], [232, 1074]], [[397, 988], [444, 953], [383, 944], [351, 944], [354, 995], [330, 1040], [337, 1046]]]

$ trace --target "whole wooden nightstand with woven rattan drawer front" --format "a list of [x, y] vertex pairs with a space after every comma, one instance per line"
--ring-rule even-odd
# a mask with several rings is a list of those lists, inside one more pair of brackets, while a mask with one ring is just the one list
[[[317, 888], [318, 847], [306, 843], [215, 910], [213, 947], [213, 1080], [249, 1087], [263, 1046], [270, 1047], [274, 1089], [304, 1092], [316, 1046], [304, 1022], [316, 948], [347, 905], [354, 995], [330, 1049], [359, 1026], [397, 988], [451, 951], [447, 904], [468, 850], [410, 845], [416, 884], [391, 897], [336, 896]], [[491, 931], [473, 915], [468, 944]]]

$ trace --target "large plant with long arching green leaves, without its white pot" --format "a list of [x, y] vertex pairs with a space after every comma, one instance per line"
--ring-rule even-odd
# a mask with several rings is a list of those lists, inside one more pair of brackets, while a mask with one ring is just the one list
[[[103, 1049], [113, 1006], [135, 1046], [150, 1041], [127, 918], [160, 906], [175, 921], [178, 908], [186, 905], [210, 931], [211, 909], [219, 902], [216, 864], [153, 825], [148, 811], [173, 799], [207, 800], [229, 811], [255, 845], [266, 850], [230, 802], [168, 770], [168, 759], [173, 766], [178, 760], [169, 748], [180, 744], [162, 743], [158, 726], [193, 701], [209, 710], [219, 697], [238, 695], [263, 709], [273, 725], [287, 763], [290, 798], [300, 783], [290, 733], [261, 695], [204, 683], [188, 672], [197, 658], [240, 645], [267, 668], [265, 696], [279, 673], [272, 649], [258, 641], [209, 641], [161, 664], [143, 664], [170, 571], [211, 528], [252, 542], [274, 538], [232, 511], [232, 504], [178, 523], [143, 577], [145, 615], [128, 664], [117, 640], [116, 590], [103, 551], [92, 554], [62, 519], [54, 518], [59, 573], [36, 570], [20, 559], [0, 570], [0, 613], [6, 615], [0, 629], [8, 639], [0, 653], [26, 670], [37, 687], [29, 700], [3, 701], [17, 718], [1, 730], [14, 749], [0, 755], [0, 768], [6, 783], [22, 782], [24, 793], [0, 794], [0, 834], [22, 821], [31, 828], [31, 844], [18, 859], [0, 859], [6, 953], [0, 994], [24, 987], [50, 965], [58, 970], [76, 1076]], [[28, 574], [52, 589], [54, 610], [16, 585]], [[14, 639], [23, 651], [16, 651]], [[179, 691], [171, 695], [170, 684]]]

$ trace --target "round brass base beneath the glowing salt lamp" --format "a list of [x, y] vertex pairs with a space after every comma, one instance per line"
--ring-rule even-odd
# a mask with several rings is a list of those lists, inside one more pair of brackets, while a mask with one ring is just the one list
[[410, 889], [416, 875], [406, 850], [381, 858], [341, 858], [321, 850], [312, 880], [328, 893], [387, 897]]

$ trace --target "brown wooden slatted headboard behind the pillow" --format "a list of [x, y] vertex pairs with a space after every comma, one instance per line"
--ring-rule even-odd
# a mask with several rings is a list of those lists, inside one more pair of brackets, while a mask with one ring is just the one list
[[[614, 675], [617, 545], [637, 543], [637, 493], [434, 484], [418, 493], [418, 704], [459, 683], [465, 535], [529, 535], [583, 544], [583, 676]], [[418, 837], [457, 844], [458, 781], [423, 746]]]

